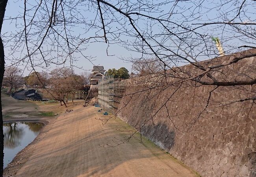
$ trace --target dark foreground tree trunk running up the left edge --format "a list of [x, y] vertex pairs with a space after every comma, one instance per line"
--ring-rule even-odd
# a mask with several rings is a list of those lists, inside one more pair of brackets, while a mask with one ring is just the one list
[[[2, 25], [4, 21], [4, 13], [8, 0], [0, 0], [0, 89], [2, 89], [2, 81], [4, 77], [4, 44], [1, 38]], [[3, 132], [3, 115], [2, 115], [2, 98], [0, 92], [0, 176], [4, 172], [4, 132]]]

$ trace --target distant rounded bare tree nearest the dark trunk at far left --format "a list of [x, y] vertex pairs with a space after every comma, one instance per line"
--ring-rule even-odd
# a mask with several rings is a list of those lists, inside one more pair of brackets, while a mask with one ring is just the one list
[[13, 88], [19, 87], [22, 83], [21, 70], [15, 66], [9, 66], [4, 72], [4, 83], [9, 87], [6, 94], [11, 94]]

